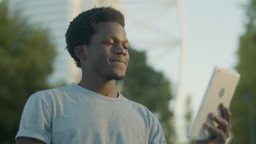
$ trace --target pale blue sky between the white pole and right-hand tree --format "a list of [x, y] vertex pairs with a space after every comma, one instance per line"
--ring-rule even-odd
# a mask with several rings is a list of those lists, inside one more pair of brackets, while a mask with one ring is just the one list
[[194, 107], [201, 100], [214, 65], [234, 69], [238, 40], [246, 22], [246, 0], [184, 1], [188, 33], [185, 93]]

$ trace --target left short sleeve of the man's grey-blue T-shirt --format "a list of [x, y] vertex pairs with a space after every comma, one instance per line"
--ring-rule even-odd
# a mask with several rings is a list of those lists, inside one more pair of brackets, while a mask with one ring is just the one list
[[18, 137], [30, 137], [51, 143], [51, 113], [39, 95], [31, 95], [22, 112]]

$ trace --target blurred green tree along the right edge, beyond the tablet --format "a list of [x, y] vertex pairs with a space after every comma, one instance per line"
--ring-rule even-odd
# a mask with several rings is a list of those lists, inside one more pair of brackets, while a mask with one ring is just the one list
[[[254, 124], [256, 111], [248, 108], [256, 103], [256, 0], [249, 0], [246, 10], [248, 19], [246, 32], [240, 37], [240, 46], [237, 51], [236, 69], [241, 74], [241, 79], [230, 106], [232, 112], [232, 140], [230, 143], [232, 144], [256, 143], [255, 132], [253, 134], [256, 125]], [[248, 96], [246, 98], [247, 94], [251, 95], [250, 99]]]

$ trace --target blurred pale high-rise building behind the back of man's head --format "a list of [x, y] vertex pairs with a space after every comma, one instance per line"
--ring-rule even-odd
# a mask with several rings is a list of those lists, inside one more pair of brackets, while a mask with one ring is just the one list
[[111, 4], [110, 0], [10, 0], [9, 2], [12, 9], [21, 9], [22, 14], [27, 16], [30, 22], [50, 29], [51, 38], [57, 46], [57, 56], [53, 63], [54, 73], [48, 79], [54, 84], [78, 82], [81, 76], [80, 69], [75, 66], [73, 59], [65, 50], [65, 33], [69, 22], [94, 5], [96, 7], [113, 5], [119, 9], [118, 1], [115, 1], [116, 5]]

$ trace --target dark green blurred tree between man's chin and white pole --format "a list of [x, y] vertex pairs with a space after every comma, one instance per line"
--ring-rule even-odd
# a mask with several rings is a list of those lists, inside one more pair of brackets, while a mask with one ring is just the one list
[[167, 143], [174, 137], [172, 112], [169, 102], [172, 99], [170, 82], [146, 64], [145, 52], [129, 49], [130, 62], [123, 82], [125, 97], [136, 101], [158, 116]]

